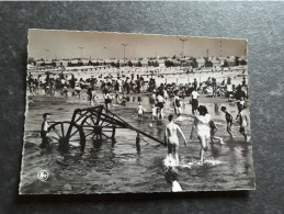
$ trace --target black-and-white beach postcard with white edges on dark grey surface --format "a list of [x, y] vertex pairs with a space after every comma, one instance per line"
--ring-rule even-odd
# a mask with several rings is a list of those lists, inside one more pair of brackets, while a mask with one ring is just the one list
[[30, 30], [19, 193], [254, 190], [247, 48]]

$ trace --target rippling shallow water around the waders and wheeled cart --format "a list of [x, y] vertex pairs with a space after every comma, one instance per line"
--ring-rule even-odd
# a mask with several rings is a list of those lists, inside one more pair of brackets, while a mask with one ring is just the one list
[[[150, 113], [145, 113], [144, 121], [138, 122], [136, 115], [137, 100], [141, 98], [145, 109], [150, 110], [147, 95], [130, 94], [126, 106], [113, 102], [112, 111], [145, 133], [163, 139], [167, 121], [150, 121]], [[102, 102], [100, 95], [99, 102]], [[42, 142], [39, 129], [42, 115], [52, 114], [52, 121], [70, 121], [72, 112], [78, 108], [89, 106], [86, 92], [81, 99], [75, 97], [64, 98], [56, 92], [55, 97], [42, 94], [29, 97], [29, 111], [25, 119], [23, 164], [21, 171], [20, 193], [22, 194], [73, 194], [98, 192], [169, 192], [171, 184], [166, 182], [162, 161], [167, 148], [159, 143], [144, 137], [140, 153], [136, 150], [136, 133], [129, 129], [117, 129], [115, 142], [104, 138], [101, 142], [87, 139], [83, 154], [77, 148], [69, 154], [61, 155], [56, 145], [50, 149], [39, 148]], [[175, 120], [181, 126], [189, 142], [184, 147], [181, 140], [179, 156], [180, 164], [178, 181], [185, 191], [207, 190], [239, 190], [253, 188], [252, 145], [245, 143], [238, 133], [239, 125], [232, 126], [235, 139], [230, 139], [226, 132], [225, 115], [220, 106], [227, 106], [234, 117], [237, 115], [235, 103], [226, 99], [213, 103], [213, 99], [201, 98], [200, 102], [207, 106], [215, 120], [218, 132], [225, 145], [211, 144], [206, 153], [204, 165], [198, 162], [200, 143], [196, 134], [190, 140], [193, 116], [191, 105], [186, 104], [183, 115]], [[171, 101], [166, 104], [166, 117], [172, 113]], [[152, 127], [149, 126], [152, 123]], [[46, 181], [37, 179], [41, 169], [48, 171]]]

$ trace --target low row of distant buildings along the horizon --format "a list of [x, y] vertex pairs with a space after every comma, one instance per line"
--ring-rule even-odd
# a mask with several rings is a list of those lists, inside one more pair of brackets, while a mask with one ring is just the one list
[[30, 60], [30, 67], [55, 68], [78, 66], [107, 66], [107, 67], [191, 67], [191, 68], [220, 68], [247, 65], [245, 57], [188, 57], [188, 58], [139, 58], [139, 59], [63, 59], [63, 60]]

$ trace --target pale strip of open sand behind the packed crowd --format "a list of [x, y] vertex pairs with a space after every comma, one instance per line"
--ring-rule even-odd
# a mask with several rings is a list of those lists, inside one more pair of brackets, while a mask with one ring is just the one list
[[[69, 68], [73, 69], [73, 68]], [[80, 68], [83, 69], [83, 68]], [[155, 68], [155, 67], [141, 67], [141, 68], [136, 68], [136, 67], [122, 67], [120, 69], [117, 68], [106, 68], [106, 69], [84, 69], [80, 70], [78, 68], [77, 71], [70, 71], [70, 70], [65, 70], [64, 75], [67, 76], [68, 79], [71, 78], [71, 75], [75, 76], [77, 79], [88, 79], [90, 77], [98, 78], [99, 80], [103, 80], [105, 77], [109, 77], [110, 74], [113, 76], [113, 79], [117, 78], [117, 75], [125, 76], [125, 77], [130, 77], [130, 75], [134, 75], [135, 77], [137, 75], [141, 75], [145, 79], [145, 81], [149, 81], [151, 77], [155, 78], [157, 86], [160, 86], [160, 83], [188, 83], [188, 82], [193, 82], [194, 79], [196, 79], [198, 82], [206, 81], [208, 77], [215, 78], [217, 82], [221, 82], [224, 79], [226, 80], [228, 77], [232, 78], [232, 83], [238, 86], [242, 81], [242, 75], [248, 77], [248, 69], [247, 66], [239, 66], [239, 67], [231, 67], [231, 68], [224, 68], [224, 71], [219, 69], [214, 69], [214, 72], [209, 68], [203, 68], [201, 70], [194, 70], [194, 74], [186, 74], [185, 71], [181, 70], [183, 69], [182, 67], [170, 67], [170, 68]], [[157, 72], [151, 72], [157, 70]], [[46, 75], [45, 72], [48, 70], [44, 71], [31, 71], [34, 77], [41, 76], [39, 80], [45, 81]], [[245, 74], [243, 74], [245, 71]], [[29, 71], [30, 72], [30, 71]], [[59, 77], [61, 71], [58, 70], [52, 70], [50, 71], [53, 75], [52, 77]]]

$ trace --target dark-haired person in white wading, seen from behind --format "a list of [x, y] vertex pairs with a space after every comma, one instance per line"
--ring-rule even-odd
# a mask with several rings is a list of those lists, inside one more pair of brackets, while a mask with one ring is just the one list
[[208, 142], [211, 139], [211, 115], [208, 114], [207, 108], [204, 105], [200, 105], [197, 111], [200, 112], [200, 115], [194, 117], [190, 138], [192, 139], [193, 131], [196, 128], [201, 143], [200, 159], [201, 162], [203, 162], [205, 151], [208, 149]]

